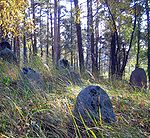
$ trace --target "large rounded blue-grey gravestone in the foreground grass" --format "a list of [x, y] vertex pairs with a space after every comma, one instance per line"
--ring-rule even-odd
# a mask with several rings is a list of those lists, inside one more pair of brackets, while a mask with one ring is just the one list
[[92, 122], [91, 118], [100, 120], [100, 116], [106, 123], [116, 120], [110, 98], [99, 86], [88, 86], [78, 94], [73, 113], [86, 122]]

